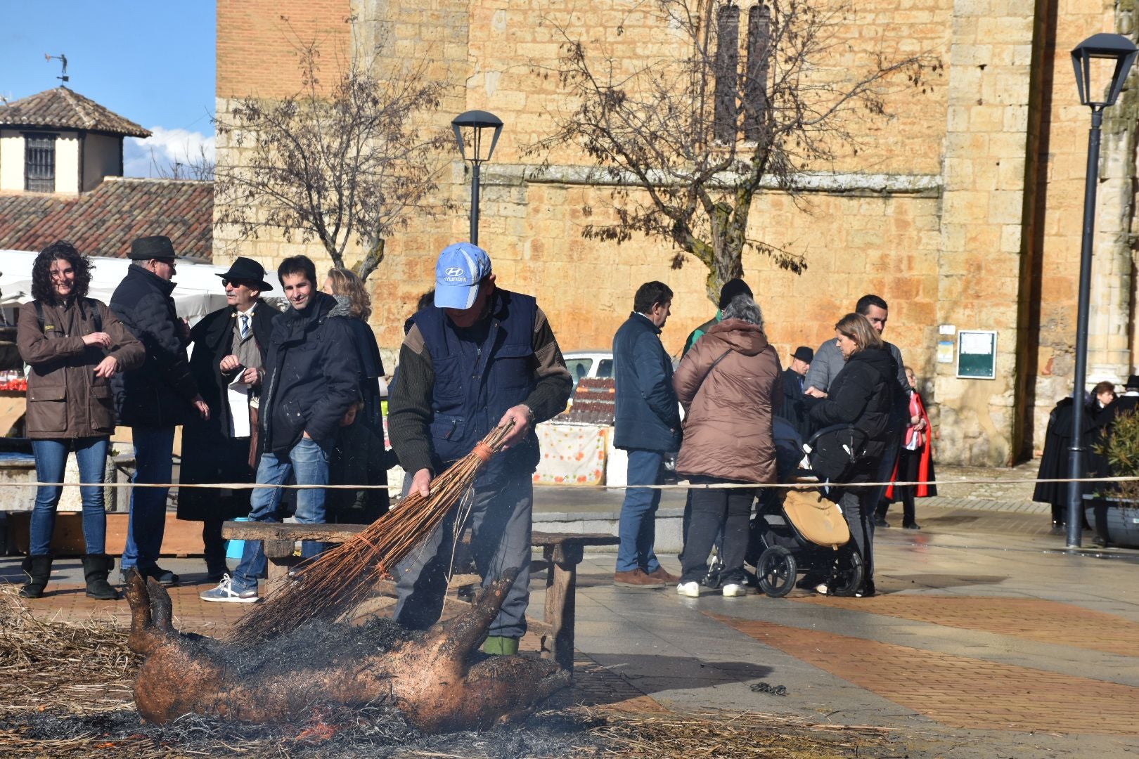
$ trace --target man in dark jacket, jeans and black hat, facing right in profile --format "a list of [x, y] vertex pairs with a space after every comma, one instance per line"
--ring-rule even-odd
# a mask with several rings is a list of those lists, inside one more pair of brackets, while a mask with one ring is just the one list
[[[174, 428], [195, 415], [210, 418], [186, 358], [189, 328], [174, 311], [174, 246], [163, 236], [131, 244], [131, 265], [110, 296], [110, 310], [146, 347], [138, 369], [120, 372], [113, 383], [118, 423], [131, 428], [134, 440], [134, 481], [170, 482], [173, 473]], [[166, 528], [170, 488], [131, 492], [126, 548], [120, 562], [123, 576], [132, 567], [163, 585], [178, 576], [158, 567]]]

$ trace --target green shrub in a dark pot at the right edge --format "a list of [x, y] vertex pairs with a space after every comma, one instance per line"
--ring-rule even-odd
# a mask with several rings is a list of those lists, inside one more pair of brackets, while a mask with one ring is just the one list
[[[1092, 449], [1113, 477], [1139, 477], [1139, 413], [1130, 410], [1116, 416], [1106, 439]], [[1100, 482], [1084, 497], [1090, 501], [1088, 522], [1097, 533], [1106, 531], [1112, 545], [1139, 548], [1139, 481]]]

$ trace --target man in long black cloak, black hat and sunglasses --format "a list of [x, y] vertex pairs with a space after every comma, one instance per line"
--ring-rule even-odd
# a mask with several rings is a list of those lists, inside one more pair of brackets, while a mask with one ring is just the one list
[[[190, 372], [211, 413], [182, 428], [179, 481], [186, 484], [252, 482], [257, 471], [257, 403], [269, 336], [280, 312], [261, 298], [273, 286], [256, 261], [239, 257], [218, 277], [228, 305], [190, 330]], [[178, 518], [202, 522], [211, 583], [220, 583], [228, 571], [222, 522], [249, 513], [251, 493], [187, 488], [179, 494]]]

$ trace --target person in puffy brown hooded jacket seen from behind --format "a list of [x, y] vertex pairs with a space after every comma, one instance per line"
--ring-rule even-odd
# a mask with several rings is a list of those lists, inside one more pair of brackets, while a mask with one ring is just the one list
[[[683, 405], [685, 442], [677, 471], [693, 485], [776, 481], [771, 419], [782, 398], [779, 356], [763, 333], [763, 314], [746, 295], [685, 354], [672, 385]], [[707, 558], [723, 526], [723, 594], [744, 595], [744, 554], [755, 488], [691, 490], [677, 593], [696, 597]]]

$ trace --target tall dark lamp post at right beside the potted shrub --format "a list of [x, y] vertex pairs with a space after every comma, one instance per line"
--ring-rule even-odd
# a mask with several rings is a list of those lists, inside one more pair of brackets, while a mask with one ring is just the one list
[[[1091, 130], [1088, 132], [1088, 171], [1083, 189], [1083, 239], [1080, 244], [1080, 302], [1075, 328], [1075, 381], [1072, 390], [1072, 447], [1068, 448], [1068, 479], [1084, 476], [1083, 447], [1083, 385], [1088, 371], [1088, 302], [1091, 289], [1091, 248], [1096, 229], [1096, 184], [1099, 182], [1099, 127], [1104, 123], [1104, 108], [1115, 105], [1128, 77], [1131, 64], [1139, 49], [1120, 34], [1093, 34], [1072, 51], [1075, 82], [1080, 90], [1080, 105], [1091, 108]], [[1114, 61], [1111, 82], [1098, 92], [1092, 92], [1092, 60], [1109, 65]], [[1103, 86], [1101, 77], [1097, 82]], [[1104, 97], [1103, 100], [1095, 99]], [[1083, 525], [1083, 484], [1068, 482], [1067, 547], [1080, 547], [1080, 531]]]

